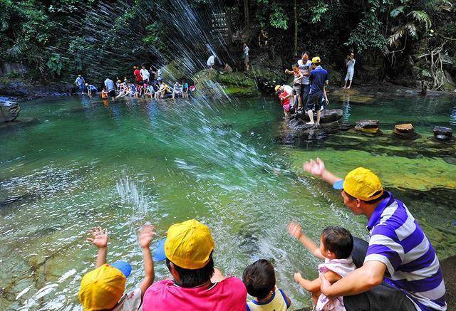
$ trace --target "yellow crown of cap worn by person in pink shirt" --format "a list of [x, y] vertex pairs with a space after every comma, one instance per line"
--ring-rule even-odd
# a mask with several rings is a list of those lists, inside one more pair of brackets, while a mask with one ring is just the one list
[[195, 270], [209, 263], [214, 246], [209, 228], [190, 219], [170, 226], [165, 241], [165, 255], [180, 268]]

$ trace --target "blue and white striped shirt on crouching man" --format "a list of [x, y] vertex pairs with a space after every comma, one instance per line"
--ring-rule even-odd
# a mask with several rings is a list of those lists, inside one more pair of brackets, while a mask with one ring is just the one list
[[403, 202], [388, 192], [367, 228], [371, 241], [364, 262], [384, 263], [389, 273], [385, 282], [403, 290], [417, 310], [447, 310], [437, 255]]

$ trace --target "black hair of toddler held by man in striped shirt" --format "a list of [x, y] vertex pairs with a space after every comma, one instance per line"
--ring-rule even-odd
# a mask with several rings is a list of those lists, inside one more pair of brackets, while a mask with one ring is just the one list
[[348, 258], [353, 251], [353, 236], [346, 228], [326, 227], [321, 239], [325, 250], [334, 253], [337, 259]]

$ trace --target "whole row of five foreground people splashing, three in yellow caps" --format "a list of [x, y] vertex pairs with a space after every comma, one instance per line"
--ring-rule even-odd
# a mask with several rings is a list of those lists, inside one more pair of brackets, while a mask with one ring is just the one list
[[[314, 310], [446, 310], [442, 270], [430, 241], [402, 201], [383, 189], [378, 176], [358, 167], [344, 179], [329, 172], [321, 159], [304, 163], [304, 170], [341, 190], [353, 214], [368, 219], [370, 241], [353, 238], [346, 229], [325, 228], [319, 246], [297, 222], [289, 235], [324, 263], [319, 277], [294, 280], [311, 292]], [[286, 230], [284, 228], [284, 230]], [[276, 286], [274, 266], [265, 259], [245, 268], [242, 280], [225, 277], [215, 268], [215, 243], [207, 226], [195, 219], [168, 228], [165, 240], [155, 246], [155, 260], [165, 260], [170, 278], [154, 283], [150, 225], [138, 233], [145, 278], [125, 293], [131, 266], [106, 263], [108, 232], [91, 231], [88, 241], [98, 248], [96, 268], [81, 280], [78, 294], [85, 310], [286, 310], [292, 304]], [[252, 300], [247, 300], [247, 293]]]

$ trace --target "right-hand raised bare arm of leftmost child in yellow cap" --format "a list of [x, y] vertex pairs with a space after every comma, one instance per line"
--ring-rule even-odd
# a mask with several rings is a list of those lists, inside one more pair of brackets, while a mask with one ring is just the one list
[[142, 226], [138, 231], [138, 242], [142, 248], [142, 257], [144, 258], [144, 272], [145, 277], [140, 284], [141, 299], [144, 297], [144, 293], [147, 288], [152, 285], [155, 278], [154, 273], [154, 262], [152, 260], [152, 254], [150, 253], [150, 241], [155, 236], [154, 226], [145, 225]]

